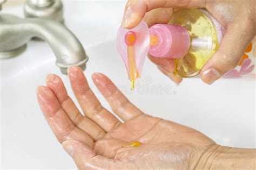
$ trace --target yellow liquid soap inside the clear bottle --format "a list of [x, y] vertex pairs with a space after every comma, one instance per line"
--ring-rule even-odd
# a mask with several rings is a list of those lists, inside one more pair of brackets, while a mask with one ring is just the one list
[[193, 77], [217, 51], [218, 32], [211, 18], [200, 9], [181, 9], [175, 12], [169, 24], [185, 27], [191, 36], [188, 53], [181, 59], [175, 59], [175, 74], [181, 77]]

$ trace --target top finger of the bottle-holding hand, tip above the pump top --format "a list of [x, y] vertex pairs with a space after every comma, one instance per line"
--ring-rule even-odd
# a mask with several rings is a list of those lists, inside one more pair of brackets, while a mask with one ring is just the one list
[[130, 0], [125, 7], [122, 26], [126, 29], [133, 28], [140, 23], [146, 12], [157, 8], [205, 8], [205, 6], [205, 0]]

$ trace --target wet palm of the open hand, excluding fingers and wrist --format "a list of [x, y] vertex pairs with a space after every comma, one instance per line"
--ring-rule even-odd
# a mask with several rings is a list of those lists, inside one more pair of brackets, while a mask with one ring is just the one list
[[[143, 144], [124, 147], [129, 141]], [[188, 169], [196, 166], [201, 153], [213, 144], [213, 140], [194, 129], [142, 115], [107, 133], [96, 142], [95, 151], [117, 160], [129, 160], [142, 169]]]

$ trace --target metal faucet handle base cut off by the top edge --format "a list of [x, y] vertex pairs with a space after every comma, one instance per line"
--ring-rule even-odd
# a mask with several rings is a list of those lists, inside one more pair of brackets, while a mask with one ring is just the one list
[[44, 18], [64, 23], [63, 4], [60, 0], [26, 0], [24, 13], [29, 18]]

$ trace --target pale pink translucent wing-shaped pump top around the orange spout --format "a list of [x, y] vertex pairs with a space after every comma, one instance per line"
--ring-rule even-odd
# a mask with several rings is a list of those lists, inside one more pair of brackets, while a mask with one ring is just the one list
[[134, 32], [136, 34], [136, 41], [133, 44], [134, 48], [134, 61], [137, 67], [137, 70], [142, 73], [143, 64], [149, 52], [150, 47], [150, 34], [149, 28], [147, 27], [145, 22], [140, 22], [138, 26], [134, 27], [133, 29], [127, 30], [124, 29], [122, 26], [119, 28], [117, 33], [117, 48], [118, 52], [122, 56], [127, 73], [129, 75], [129, 63], [128, 63], [128, 52], [127, 52], [127, 45], [125, 43], [125, 36], [127, 32]]

